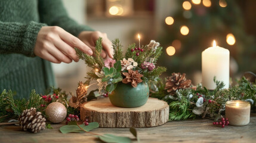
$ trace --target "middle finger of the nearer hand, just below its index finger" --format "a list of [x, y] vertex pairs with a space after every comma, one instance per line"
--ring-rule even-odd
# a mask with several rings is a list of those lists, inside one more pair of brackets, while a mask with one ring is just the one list
[[64, 52], [64, 54], [66, 54], [69, 58], [73, 59], [74, 61], [78, 62], [79, 58], [76, 55], [76, 51], [74, 48], [72, 48], [70, 45], [68, 45], [67, 43], [65, 43], [64, 41], [62, 41], [61, 39], [57, 39], [54, 42], [54, 45], [62, 52]]

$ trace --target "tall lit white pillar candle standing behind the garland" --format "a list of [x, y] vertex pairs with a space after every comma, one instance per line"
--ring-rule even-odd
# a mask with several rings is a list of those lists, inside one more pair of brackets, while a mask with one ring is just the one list
[[202, 52], [202, 85], [207, 89], [216, 88], [216, 80], [225, 83], [224, 88], [229, 88], [229, 50], [214, 45]]

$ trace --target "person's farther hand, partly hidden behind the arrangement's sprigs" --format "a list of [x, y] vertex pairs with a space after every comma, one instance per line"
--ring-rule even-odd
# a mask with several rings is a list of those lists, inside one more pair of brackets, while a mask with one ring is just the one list
[[107, 55], [109, 55], [110, 58], [113, 58], [113, 49], [110, 40], [107, 38], [106, 33], [101, 33], [98, 31], [83, 31], [78, 35], [78, 38], [86, 45], [88, 45], [93, 51], [95, 50], [95, 41], [97, 41], [97, 39], [100, 37], [102, 38], [103, 46], [101, 57], [106, 58]]

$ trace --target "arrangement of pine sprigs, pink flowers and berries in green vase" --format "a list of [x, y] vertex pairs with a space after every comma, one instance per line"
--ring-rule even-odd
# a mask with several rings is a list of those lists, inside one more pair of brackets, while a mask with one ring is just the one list
[[93, 56], [84, 54], [76, 49], [80, 59], [84, 60], [87, 66], [92, 67], [88, 71], [86, 85], [92, 80], [97, 80], [100, 94], [111, 93], [119, 82], [130, 84], [136, 88], [141, 82], [159, 80], [159, 75], [166, 71], [165, 67], [156, 67], [156, 61], [162, 53], [162, 47], [158, 42], [150, 41], [149, 45], [137, 48], [135, 43], [128, 46], [127, 52], [122, 51], [119, 39], [112, 41], [113, 59], [103, 60], [100, 57], [102, 39], [95, 42]]

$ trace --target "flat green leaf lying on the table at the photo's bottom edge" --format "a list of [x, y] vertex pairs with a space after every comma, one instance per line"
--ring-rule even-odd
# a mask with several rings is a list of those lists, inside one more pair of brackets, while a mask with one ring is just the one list
[[131, 142], [131, 139], [129, 139], [128, 137], [124, 137], [124, 136], [115, 136], [115, 135], [111, 135], [111, 134], [104, 134], [104, 135], [100, 135], [97, 136], [98, 138], [100, 138], [101, 141], [103, 142], [108, 142], [108, 143], [129, 143]]

